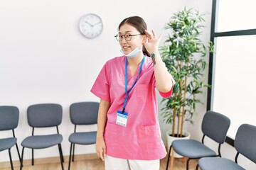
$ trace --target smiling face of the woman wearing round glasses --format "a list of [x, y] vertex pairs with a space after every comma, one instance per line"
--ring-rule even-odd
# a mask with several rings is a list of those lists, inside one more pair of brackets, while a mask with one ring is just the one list
[[139, 49], [142, 48], [142, 44], [146, 41], [146, 36], [138, 34], [141, 33], [139, 33], [134, 26], [131, 26], [128, 23], [124, 23], [124, 25], [119, 28], [119, 35], [134, 35], [129, 41], [125, 40], [124, 36], [122, 36], [122, 40], [119, 41], [119, 45], [122, 47], [125, 55], [129, 54], [129, 52], [132, 52], [132, 50], [137, 47], [139, 47]]

